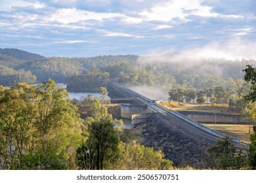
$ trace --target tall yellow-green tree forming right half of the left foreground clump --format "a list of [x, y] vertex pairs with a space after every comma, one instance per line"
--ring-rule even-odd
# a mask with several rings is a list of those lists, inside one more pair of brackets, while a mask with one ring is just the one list
[[72, 105], [68, 93], [58, 87], [53, 80], [40, 84], [37, 88], [37, 121], [39, 132], [38, 148], [45, 156], [51, 154], [70, 160], [74, 166], [75, 149], [81, 143], [81, 120]]

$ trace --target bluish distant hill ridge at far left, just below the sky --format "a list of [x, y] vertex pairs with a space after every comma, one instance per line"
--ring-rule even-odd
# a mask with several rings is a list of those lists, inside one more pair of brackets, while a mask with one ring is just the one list
[[39, 54], [33, 54], [16, 48], [0, 48], [0, 54], [11, 56], [22, 61], [32, 61], [35, 59], [43, 59], [45, 57]]

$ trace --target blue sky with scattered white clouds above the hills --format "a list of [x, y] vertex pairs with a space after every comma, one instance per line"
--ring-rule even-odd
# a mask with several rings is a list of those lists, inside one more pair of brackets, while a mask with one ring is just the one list
[[256, 1], [0, 0], [0, 48], [256, 58]]

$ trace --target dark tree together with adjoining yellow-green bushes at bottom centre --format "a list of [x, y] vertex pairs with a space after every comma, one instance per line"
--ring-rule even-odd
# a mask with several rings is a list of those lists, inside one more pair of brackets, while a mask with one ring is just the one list
[[[90, 103], [85, 119], [87, 141], [77, 149], [79, 169], [171, 169], [172, 162], [161, 151], [129, 142], [121, 123], [108, 114], [98, 99]], [[121, 141], [122, 139], [123, 141]]]

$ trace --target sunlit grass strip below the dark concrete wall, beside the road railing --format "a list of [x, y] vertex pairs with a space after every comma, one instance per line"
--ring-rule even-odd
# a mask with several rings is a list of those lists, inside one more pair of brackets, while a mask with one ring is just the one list
[[[215, 124], [203, 124], [211, 129], [215, 129]], [[230, 137], [236, 137], [242, 142], [250, 142], [251, 135], [249, 134], [249, 125], [229, 125], [229, 124], [216, 124], [216, 130], [220, 133], [228, 135]], [[251, 133], [253, 133], [253, 127], [251, 125]]]

